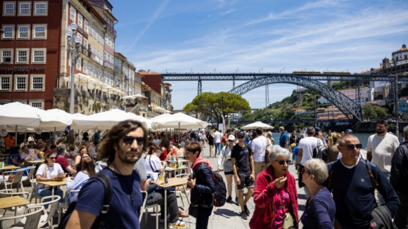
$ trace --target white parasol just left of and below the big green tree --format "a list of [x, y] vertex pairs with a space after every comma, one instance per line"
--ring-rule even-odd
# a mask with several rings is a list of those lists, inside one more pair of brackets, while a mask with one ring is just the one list
[[200, 119], [196, 119], [187, 114], [177, 113], [163, 117], [153, 121], [155, 129], [160, 128], [174, 128], [174, 129], [198, 129], [208, 126], [208, 122], [204, 122]]

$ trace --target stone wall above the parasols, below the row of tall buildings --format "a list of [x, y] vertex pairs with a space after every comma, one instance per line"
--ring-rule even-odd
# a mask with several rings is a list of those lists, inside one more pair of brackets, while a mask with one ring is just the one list
[[[53, 95], [53, 107], [70, 112], [70, 89], [54, 89]], [[121, 103], [120, 100], [113, 100], [102, 94], [97, 95], [79, 89], [75, 89], [74, 100], [74, 113], [81, 114], [95, 114], [119, 108]]]

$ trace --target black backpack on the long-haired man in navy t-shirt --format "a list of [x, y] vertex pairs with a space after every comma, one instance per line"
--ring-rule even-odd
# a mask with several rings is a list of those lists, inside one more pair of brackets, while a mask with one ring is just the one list
[[[105, 187], [105, 192], [103, 195], [103, 205], [101, 209], [101, 213], [99, 216], [96, 217], [94, 223], [92, 224], [91, 228], [96, 229], [96, 228], [105, 228], [105, 218], [104, 216], [106, 213], [108, 213], [109, 210], [109, 204], [110, 204], [110, 199], [112, 197], [112, 183], [110, 183], [110, 178], [106, 174], [98, 173], [95, 174], [91, 179], [96, 179], [98, 181], [101, 181], [103, 183], [103, 187]], [[89, 184], [89, 182], [85, 183], [81, 190], [79, 191], [78, 195], [81, 195], [82, 190], [84, 190], [84, 187], [86, 187]], [[61, 220], [60, 224], [58, 225], [58, 229], [64, 229], [65, 226], [68, 224], [68, 221], [70, 220], [72, 212], [75, 210], [75, 206], [77, 206], [77, 202], [73, 202], [70, 204], [70, 207], [68, 207], [67, 212], [65, 212], [65, 215], [63, 216], [63, 219]]]

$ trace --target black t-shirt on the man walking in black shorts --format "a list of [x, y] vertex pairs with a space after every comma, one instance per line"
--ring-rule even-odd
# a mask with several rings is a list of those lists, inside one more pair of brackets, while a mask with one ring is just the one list
[[235, 158], [236, 166], [238, 167], [238, 174], [250, 175], [252, 170], [250, 168], [249, 157], [253, 155], [252, 150], [248, 144], [243, 147], [238, 144], [234, 145], [231, 151], [231, 158]]

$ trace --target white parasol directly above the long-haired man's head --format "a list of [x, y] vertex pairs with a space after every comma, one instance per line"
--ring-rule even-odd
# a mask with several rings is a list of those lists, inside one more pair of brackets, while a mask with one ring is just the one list
[[119, 122], [132, 119], [144, 124], [146, 129], [151, 129], [151, 121], [134, 113], [119, 109], [108, 110], [84, 117], [74, 117], [71, 129], [111, 129]]

